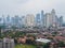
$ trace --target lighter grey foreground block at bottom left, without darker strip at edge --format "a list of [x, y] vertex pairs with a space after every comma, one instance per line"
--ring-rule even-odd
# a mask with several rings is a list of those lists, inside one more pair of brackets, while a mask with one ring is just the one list
[[14, 48], [14, 39], [3, 38], [3, 48]]

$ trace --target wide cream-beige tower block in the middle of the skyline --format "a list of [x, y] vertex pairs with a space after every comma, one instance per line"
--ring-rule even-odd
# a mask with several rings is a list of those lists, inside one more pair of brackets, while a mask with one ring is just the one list
[[26, 27], [34, 27], [35, 26], [35, 15], [27, 14], [26, 15]]

